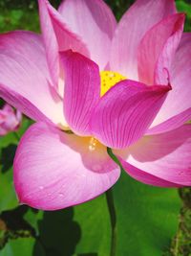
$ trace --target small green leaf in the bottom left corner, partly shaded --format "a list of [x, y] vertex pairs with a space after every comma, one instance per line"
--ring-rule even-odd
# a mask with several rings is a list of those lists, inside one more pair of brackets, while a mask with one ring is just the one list
[[45, 256], [42, 245], [33, 238], [10, 240], [0, 251], [0, 256]]

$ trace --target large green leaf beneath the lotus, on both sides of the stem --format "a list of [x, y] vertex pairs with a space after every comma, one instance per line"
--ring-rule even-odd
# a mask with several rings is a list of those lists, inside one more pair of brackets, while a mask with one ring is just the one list
[[[147, 186], [123, 172], [113, 193], [117, 256], [160, 256], [178, 228], [177, 190]], [[111, 226], [105, 195], [62, 211], [31, 209], [25, 220], [38, 230], [48, 256], [109, 255]]]

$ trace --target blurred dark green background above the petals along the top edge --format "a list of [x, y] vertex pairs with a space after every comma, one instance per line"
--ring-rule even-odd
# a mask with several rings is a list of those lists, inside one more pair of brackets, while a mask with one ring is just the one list
[[[50, 2], [52, 2], [54, 7], [57, 7], [60, 3], [59, 0], [52, 0]], [[119, 19], [122, 13], [134, 3], [134, 0], [106, 0], [105, 2], [113, 9], [117, 19]], [[189, 31], [191, 29], [191, 1], [177, 0], [176, 4], [180, 12], [187, 13], [185, 30]], [[0, 11], [1, 33], [15, 29], [39, 31], [37, 1], [1, 0]]]

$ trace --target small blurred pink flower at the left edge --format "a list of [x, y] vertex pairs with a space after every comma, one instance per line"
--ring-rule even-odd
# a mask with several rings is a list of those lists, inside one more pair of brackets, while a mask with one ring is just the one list
[[22, 120], [22, 114], [20, 111], [14, 111], [11, 105], [4, 105], [0, 109], [0, 136], [6, 135], [10, 131], [19, 128]]

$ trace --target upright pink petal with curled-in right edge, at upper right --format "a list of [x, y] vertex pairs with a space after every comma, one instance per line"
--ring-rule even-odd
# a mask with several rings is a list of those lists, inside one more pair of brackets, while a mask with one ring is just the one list
[[[174, 57], [175, 50], [180, 43], [183, 23], [184, 14], [179, 13], [170, 15], [160, 21], [144, 35], [138, 47], [139, 81], [147, 84], [153, 84], [155, 82], [158, 84], [168, 83], [168, 81], [166, 81], [166, 76], [164, 77], [163, 74], [160, 74], [163, 73], [163, 71], [159, 71], [164, 68], [169, 71], [170, 63]], [[161, 81], [159, 79], [155, 81], [155, 69], [160, 55], [163, 56], [163, 61], [162, 63], [160, 61], [160, 66], [158, 67]]]

